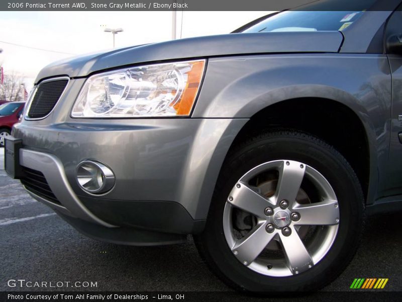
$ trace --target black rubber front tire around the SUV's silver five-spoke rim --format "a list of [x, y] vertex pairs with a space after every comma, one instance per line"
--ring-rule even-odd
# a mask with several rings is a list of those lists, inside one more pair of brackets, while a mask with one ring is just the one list
[[[312, 268], [287, 277], [257, 273], [232, 253], [223, 231], [226, 200], [236, 182], [249, 170], [269, 161], [286, 159], [306, 163], [331, 184], [339, 202], [340, 223], [326, 256]], [[252, 292], [315, 291], [337, 278], [356, 253], [364, 222], [364, 197], [353, 169], [335, 148], [308, 133], [274, 130], [234, 147], [214, 191], [206, 228], [194, 241], [210, 269], [226, 284]]]

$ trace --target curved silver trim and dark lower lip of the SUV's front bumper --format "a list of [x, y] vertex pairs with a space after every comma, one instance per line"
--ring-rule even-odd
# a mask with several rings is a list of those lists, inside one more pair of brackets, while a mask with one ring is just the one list
[[[25, 187], [36, 200], [51, 207], [65, 221], [87, 237], [115, 244], [149, 246], [185, 242], [185, 235], [137, 230], [117, 226], [96, 217], [78, 199], [65, 177], [63, 166], [53, 155], [29, 149], [19, 150], [23, 174], [26, 168], [43, 173], [58, 202]], [[25, 170], [24, 170], [25, 169]], [[23, 179], [25, 177], [23, 176]], [[38, 183], [37, 183], [38, 185]], [[37, 191], [35, 191], [37, 192]]]

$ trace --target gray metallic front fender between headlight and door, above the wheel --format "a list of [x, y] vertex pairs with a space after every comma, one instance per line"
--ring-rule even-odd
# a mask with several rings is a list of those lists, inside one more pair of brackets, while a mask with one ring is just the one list
[[[349, 107], [369, 142], [370, 188], [385, 169], [391, 78], [386, 56], [344, 54], [259, 55], [209, 60], [192, 117], [252, 118], [281, 101], [334, 100]], [[372, 200], [375, 190], [369, 190]]]

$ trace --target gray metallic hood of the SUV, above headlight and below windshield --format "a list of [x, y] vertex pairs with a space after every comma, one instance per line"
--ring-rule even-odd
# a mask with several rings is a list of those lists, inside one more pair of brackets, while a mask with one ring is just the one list
[[343, 35], [327, 32], [237, 33], [179, 39], [87, 54], [43, 68], [35, 83], [58, 75], [70, 78], [118, 66], [161, 60], [256, 53], [338, 52]]

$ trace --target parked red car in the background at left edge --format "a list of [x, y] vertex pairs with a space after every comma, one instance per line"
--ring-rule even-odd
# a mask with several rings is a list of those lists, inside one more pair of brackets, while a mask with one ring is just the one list
[[6, 102], [0, 105], [0, 147], [4, 147], [4, 138], [11, 133], [24, 111], [25, 102]]

